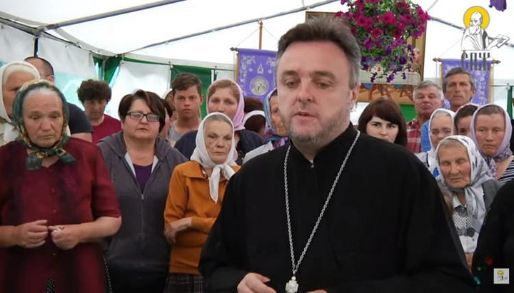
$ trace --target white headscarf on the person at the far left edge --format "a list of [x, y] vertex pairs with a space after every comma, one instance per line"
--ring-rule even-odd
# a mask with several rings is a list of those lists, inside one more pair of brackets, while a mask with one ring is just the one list
[[[19, 134], [19, 131], [14, 126], [14, 121], [11, 121], [11, 118], [9, 118], [9, 115], [7, 115], [7, 110], [5, 108], [4, 104], [4, 83], [6, 83], [7, 78], [12, 73], [15, 72], [26, 72], [31, 73], [34, 76], [34, 79], [39, 79], [39, 72], [37, 71], [36, 67], [34, 67], [31, 63], [25, 62], [25, 61], [13, 61], [6, 63], [4, 66], [0, 67], [0, 118], [5, 120], [7, 123], [2, 123], [0, 121], [0, 124], [4, 126], [4, 142], [3, 143], [9, 143], [16, 139], [16, 137]], [[1, 128], [1, 127], [0, 127]], [[1, 129], [0, 129], [0, 135], [1, 135]], [[2, 142], [0, 141], [0, 145]]]

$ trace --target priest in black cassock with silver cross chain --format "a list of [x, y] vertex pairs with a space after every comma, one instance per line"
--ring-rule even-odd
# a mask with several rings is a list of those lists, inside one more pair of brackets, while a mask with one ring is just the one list
[[361, 52], [340, 20], [278, 43], [291, 143], [234, 175], [200, 271], [211, 292], [473, 292], [434, 178], [350, 123]]

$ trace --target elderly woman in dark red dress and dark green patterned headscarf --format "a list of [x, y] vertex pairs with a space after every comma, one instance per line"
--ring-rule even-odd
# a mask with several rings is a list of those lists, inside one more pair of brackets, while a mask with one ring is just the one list
[[99, 240], [119, 229], [96, 145], [66, 135], [68, 107], [48, 81], [16, 94], [20, 130], [0, 148], [0, 292], [106, 292]]

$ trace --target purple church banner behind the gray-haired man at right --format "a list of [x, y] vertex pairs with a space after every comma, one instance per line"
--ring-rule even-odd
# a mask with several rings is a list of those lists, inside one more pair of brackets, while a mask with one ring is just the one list
[[[466, 71], [471, 73], [471, 76], [475, 78], [475, 86], [476, 92], [475, 96], [471, 99], [471, 103], [476, 103], [478, 105], [485, 105], [489, 103], [490, 96], [490, 68], [491, 61], [483, 61], [478, 59], [475, 61], [469, 59], [443, 59], [443, 74], [445, 76], [446, 72], [448, 72], [453, 67], [463, 67]], [[445, 104], [448, 103], [445, 100]], [[446, 106], [446, 105], [445, 105]], [[447, 108], [447, 107], [445, 107]], [[449, 108], [449, 104], [448, 104]]]

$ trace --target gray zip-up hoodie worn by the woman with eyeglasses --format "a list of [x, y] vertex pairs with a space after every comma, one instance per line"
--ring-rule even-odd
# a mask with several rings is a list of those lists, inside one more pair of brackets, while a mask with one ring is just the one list
[[168, 185], [176, 165], [186, 158], [163, 139], [156, 141], [156, 160], [141, 194], [141, 187], [125, 159], [123, 132], [99, 142], [99, 148], [119, 197], [121, 228], [109, 244], [109, 270], [137, 274], [168, 272], [170, 247], [163, 237], [163, 212]]

